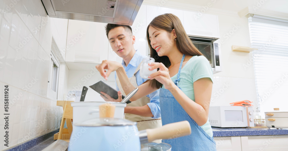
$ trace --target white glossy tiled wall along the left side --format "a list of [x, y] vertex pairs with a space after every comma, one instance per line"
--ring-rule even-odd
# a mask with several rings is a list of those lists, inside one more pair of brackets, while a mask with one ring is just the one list
[[[8, 85], [9, 147], [60, 127], [63, 109], [46, 94], [52, 35], [65, 48], [67, 24], [67, 19], [49, 18], [40, 0], [0, 1], [0, 95]], [[67, 76], [67, 69], [60, 70], [60, 78]], [[61, 89], [67, 90], [67, 82]], [[0, 103], [3, 107], [4, 101]], [[1, 118], [0, 127], [4, 124]], [[8, 148], [3, 143], [0, 150]]]

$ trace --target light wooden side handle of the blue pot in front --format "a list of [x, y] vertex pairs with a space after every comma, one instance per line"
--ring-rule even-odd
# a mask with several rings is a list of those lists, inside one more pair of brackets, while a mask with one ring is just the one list
[[180, 121], [163, 125], [160, 128], [147, 129], [148, 142], [158, 139], [172, 139], [191, 134], [191, 126], [188, 121]]

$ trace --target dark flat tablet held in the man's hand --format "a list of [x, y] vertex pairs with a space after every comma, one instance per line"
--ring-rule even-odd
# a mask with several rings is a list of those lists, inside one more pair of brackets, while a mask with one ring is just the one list
[[[113, 89], [109, 85], [107, 85], [107, 83], [105, 83], [102, 80], [95, 83], [94, 85], [89, 86], [89, 87], [101, 95], [103, 95], [103, 94], [100, 92], [104, 92], [104, 93], [108, 94], [110, 97], [112, 97], [113, 99], [118, 99], [118, 91]], [[103, 95], [103, 96], [105, 97], [105, 95]], [[124, 95], [122, 95], [122, 99], [124, 99], [124, 98], [125, 98]], [[126, 103], [127, 104], [131, 103], [131, 101], [127, 101]]]

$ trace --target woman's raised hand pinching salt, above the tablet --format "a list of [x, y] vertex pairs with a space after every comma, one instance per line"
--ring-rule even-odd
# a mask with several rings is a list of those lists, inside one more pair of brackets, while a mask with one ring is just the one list
[[[122, 64], [120, 64], [119, 62], [103, 60], [101, 64], [98, 64], [95, 67], [100, 72], [101, 76], [105, 80], [108, 80], [110, 73], [117, 70], [121, 66]], [[106, 72], [105, 69], [108, 69], [107, 73], [105, 73]]]

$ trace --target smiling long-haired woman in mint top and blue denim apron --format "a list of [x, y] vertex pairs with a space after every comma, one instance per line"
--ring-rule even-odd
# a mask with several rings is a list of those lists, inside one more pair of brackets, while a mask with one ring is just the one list
[[[159, 70], [138, 87], [130, 101], [160, 88], [162, 125], [187, 120], [192, 129], [189, 136], [162, 142], [177, 151], [216, 150], [208, 121], [213, 85], [213, 72], [208, 60], [192, 44], [181, 21], [173, 14], [159, 15], [151, 21], [147, 27], [147, 41], [151, 57], [155, 59], [149, 64], [149, 70]], [[126, 94], [134, 89], [121, 64], [105, 60], [96, 68], [105, 79], [116, 71]], [[108, 69], [107, 74], [104, 69]]]

